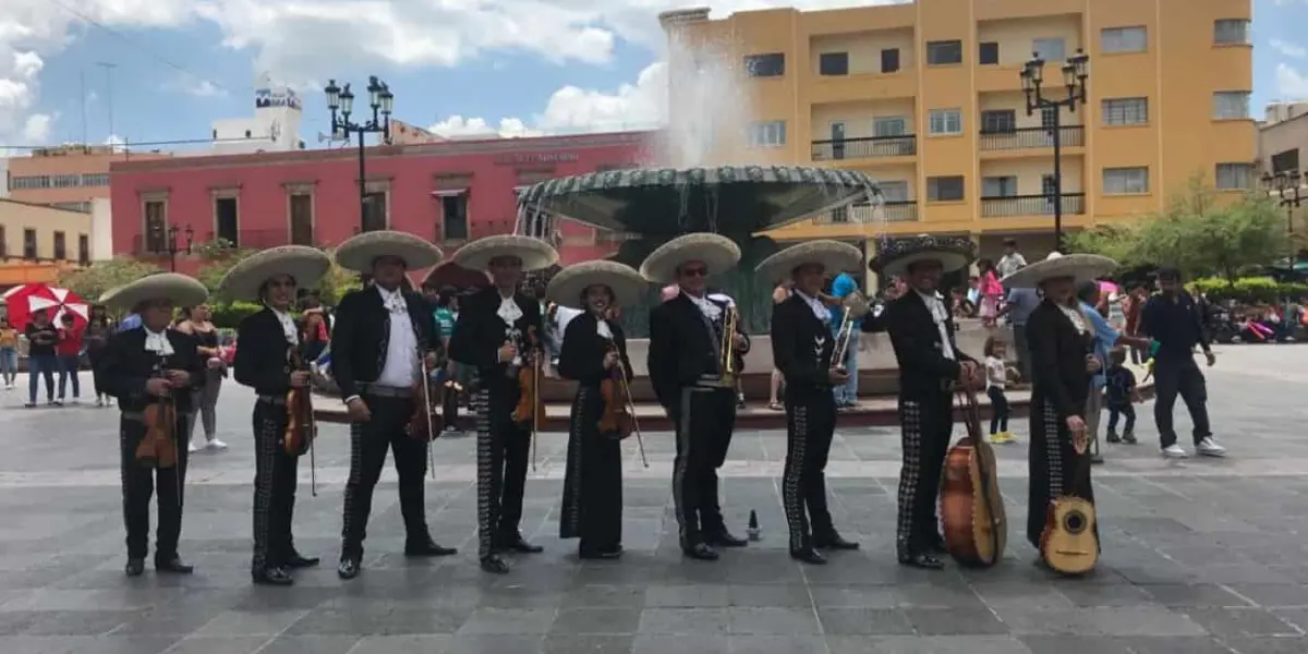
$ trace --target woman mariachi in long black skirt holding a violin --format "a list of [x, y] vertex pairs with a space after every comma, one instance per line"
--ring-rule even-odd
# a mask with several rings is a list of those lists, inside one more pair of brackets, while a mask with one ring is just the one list
[[634, 426], [632, 362], [623, 328], [608, 317], [617, 302], [638, 301], [645, 288], [630, 266], [598, 260], [564, 268], [547, 289], [551, 301], [585, 311], [568, 322], [559, 352], [559, 375], [577, 382], [559, 538], [579, 539], [581, 559], [623, 555], [621, 439]]

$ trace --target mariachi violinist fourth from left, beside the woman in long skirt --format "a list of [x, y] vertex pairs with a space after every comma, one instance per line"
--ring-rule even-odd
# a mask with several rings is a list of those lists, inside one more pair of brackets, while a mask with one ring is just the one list
[[[481, 569], [509, 572], [500, 552], [540, 552], [518, 530], [522, 493], [531, 454], [531, 420], [539, 396], [531, 370], [544, 366], [544, 326], [540, 302], [522, 293], [522, 273], [548, 268], [559, 252], [539, 238], [498, 234], [473, 241], [454, 255], [471, 271], [487, 271], [492, 286], [459, 303], [459, 319], [450, 337], [450, 358], [477, 369], [477, 557]], [[526, 371], [526, 374], [523, 374]], [[525, 381], [526, 379], [526, 381]], [[527, 422], [514, 421], [514, 409], [526, 403]], [[544, 416], [540, 416], [544, 417]]]

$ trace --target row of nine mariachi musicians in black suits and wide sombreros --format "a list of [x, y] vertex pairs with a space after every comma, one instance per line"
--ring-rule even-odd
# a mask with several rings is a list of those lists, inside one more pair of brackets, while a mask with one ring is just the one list
[[[473, 366], [480, 379], [472, 398], [477, 559], [488, 573], [508, 573], [504, 553], [542, 551], [523, 536], [519, 523], [527, 468], [535, 456], [534, 434], [545, 417], [539, 392], [544, 326], [540, 302], [523, 294], [519, 285], [523, 273], [553, 266], [557, 252], [526, 235], [485, 237], [462, 247], [454, 262], [485, 271], [490, 285], [462, 303], [454, 334], [446, 335], [449, 352], [442, 352], [432, 307], [404, 285], [409, 271], [441, 262], [438, 247], [407, 233], [368, 232], [341, 243], [335, 256], [341, 267], [370, 279], [365, 288], [340, 300], [331, 336], [332, 375], [345, 404], [351, 438], [337, 574], [349, 579], [361, 572], [373, 490], [387, 450], [399, 477], [404, 555], [455, 553], [433, 540], [424, 502], [432, 441], [439, 433], [439, 425], [433, 424], [439, 413], [438, 388], [428, 379], [446, 356]], [[1049, 539], [1050, 528], [1058, 527], [1046, 519], [1053, 515], [1046, 510], [1052, 502], [1063, 496], [1092, 502], [1088, 467], [1076, 466], [1084, 453], [1079, 407], [1086, 404], [1087, 374], [1093, 371], [1084, 357], [1090, 331], [1069, 309], [1067, 289], [1076, 280], [1103, 273], [1104, 260], [1078, 256], [1033, 264], [1019, 271], [1024, 277], [1016, 280], [1042, 288], [1048, 305], [1032, 315], [1028, 334], [1036, 370], [1028, 538], [1037, 548]], [[937, 502], [955, 421], [955, 394], [971, 392], [984, 378], [977, 361], [957, 349], [938, 286], [942, 275], [973, 259], [969, 239], [940, 237], [886, 243], [876, 255], [879, 272], [904, 277], [912, 289], [862, 327], [884, 328], [899, 360], [903, 468], [896, 544], [899, 561], [910, 566], [942, 568], [940, 555], [954, 552], [955, 540], [963, 539], [940, 532]], [[578, 383], [560, 536], [578, 539], [579, 557], [612, 560], [623, 555], [621, 441], [634, 433], [640, 442], [640, 428], [628, 386], [632, 365], [627, 340], [611, 317], [620, 303], [641, 301], [649, 284], [679, 288], [674, 298], [650, 311], [647, 369], [658, 402], [675, 425], [672, 496], [680, 548], [689, 559], [712, 561], [722, 548], [747, 545], [723, 518], [718, 468], [735, 426], [736, 375], [749, 337], [735, 305], [706, 293], [708, 277], [730, 271], [739, 260], [740, 250], [731, 239], [695, 233], [659, 246], [640, 271], [595, 260], [569, 266], [551, 280], [547, 298], [582, 311], [566, 326], [557, 362], [557, 373]], [[857, 247], [812, 241], [783, 249], [756, 268], [766, 281], [789, 283], [793, 290], [773, 309], [770, 340], [773, 361], [786, 381], [781, 494], [789, 551], [808, 564], [827, 562], [824, 551], [859, 547], [836, 530], [827, 506], [824, 468], [837, 421], [832, 387], [848, 378], [840, 362], [853, 319], [867, 307], [857, 301], [833, 306], [821, 288], [827, 275], [862, 264]], [[317, 285], [330, 267], [331, 259], [317, 249], [284, 246], [241, 260], [220, 284], [225, 297], [264, 307], [241, 322], [234, 361], [235, 379], [256, 392], [251, 577], [260, 585], [292, 585], [293, 570], [319, 562], [300, 553], [292, 536], [298, 460], [313, 458], [317, 425], [310, 368], [290, 310], [297, 290]], [[207, 368], [222, 362], [199, 356], [188, 336], [167, 326], [174, 307], [194, 306], [205, 297], [205, 288], [191, 277], [156, 273], [102, 298], [110, 307], [141, 317], [141, 327], [114, 336], [99, 369], [122, 409], [128, 576], [140, 576], [145, 568], [154, 490], [154, 568], [160, 573], [192, 572], [178, 555], [187, 464], [184, 425], [192, 411], [187, 391], [204, 383]], [[984, 477], [993, 483], [993, 456], [988, 463], [982, 439], [973, 438], [968, 446], [974, 447], [968, 459], [971, 473], [982, 477], [977, 485], [986, 487]], [[984, 470], [988, 464], [990, 471]], [[963, 470], [964, 476], [968, 472]], [[313, 492], [317, 494], [317, 485]], [[998, 489], [976, 492], [986, 496]], [[985, 497], [978, 501], [985, 504]], [[999, 538], [995, 532], [1005, 528], [1002, 500], [993, 514], [980, 509], [963, 513], [971, 523], [959, 530], [971, 528], [977, 539]], [[950, 519], [946, 515], [947, 532]], [[1097, 542], [1095, 548], [1097, 556]], [[1002, 551], [1002, 544], [990, 547], [980, 562], [998, 560], [995, 549]]]

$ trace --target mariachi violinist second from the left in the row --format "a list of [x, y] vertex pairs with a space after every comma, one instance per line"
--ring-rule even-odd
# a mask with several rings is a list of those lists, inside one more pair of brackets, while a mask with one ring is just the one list
[[[255, 391], [254, 403], [254, 555], [250, 576], [255, 583], [290, 586], [290, 570], [318, 565], [301, 556], [290, 535], [296, 509], [300, 456], [313, 447], [313, 416], [292, 416], [313, 408], [288, 394], [310, 392], [309, 343], [290, 317], [296, 290], [315, 286], [331, 268], [331, 258], [307, 246], [281, 246], [238, 262], [218, 283], [218, 294], [259, 302], [263, 310], [237, 328], [235, 379]], [[307, 395], [303, 395], [307, 398]], [[303, 429], [298, 425], [303, 424]], [[290, 433], [288, 433], [288, 429]], [[310, 460], [313, 464], [313, 460]]]

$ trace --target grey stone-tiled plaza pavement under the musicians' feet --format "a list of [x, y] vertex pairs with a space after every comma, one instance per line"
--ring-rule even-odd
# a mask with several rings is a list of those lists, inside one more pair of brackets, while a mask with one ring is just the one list
[[[837, 430], [828, 466], [837, 526], [862, 542], [824, 568], [786, 556], [778, 475], [785, 438], [735, 436], [725, 509], [763, 540], [715, 564], [683, 561], [671, 514], [672, 441], [645, 434], [650, 467], [625, 443], [620, 562], [579, 562], [557, 539], [562, 434], [543, 436], [525, 532], [545, 547], [509, 576], [475, 564], [473, 439], [437, 443], [428, 519], [455, 557], [408, 561], [394, 472], [374, 498], [364, 574], [336, 578], [347, 430], [323, 425], [318, 497], [309, 470], [298, 548], [322, 556], [290, 589], [250, 585], [251, 394], [224, 387], [220, 437], [194, 459], [182, 555], [192, 577], [123, 577], [116, 411], [24, 409], [0, 391], [0, 654], [1163, 654], [1308, 653], [1308, 348], [1219, 351], [1211, 412], [1224, 460], [1164, 462], [1150, 407], [1142, 445], [1095, 468], [1104, 557], [1082, 579], [1031, 565], [1023, 535], [1024, 445], [999, 449], [1010, 517], [990, 570], [905, 569], [893, 560], [899, 439]], [[26, 382], [24, 378], [22, 382]], [[85, 378], [89, 386], [89, 378]], [[1177, 408], [1182, 434], [1189, 422]], [[1016, 432], [1025, 441], [1025, 424]], [[1182, 443], [1189, 439], [1182, 436]], [[307, 460], [305, 462], [307, 463]]]

